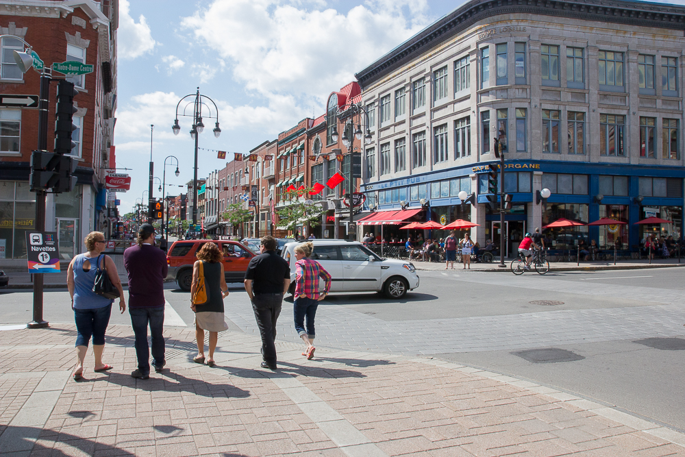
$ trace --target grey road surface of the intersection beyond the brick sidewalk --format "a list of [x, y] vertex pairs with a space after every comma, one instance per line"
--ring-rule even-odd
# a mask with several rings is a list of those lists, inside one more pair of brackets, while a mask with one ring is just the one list
[[[682, 268], [526, 273], [422, 271], [393, 301], [332, 295], [317, 313], [320, 345], [432, 355], [560, 388], [685, 431]], [[225, 301], [232, 330], [257, 332], [241, 284]], [[170, 322], [192, 325], [188, 293], [167, 285]], [[71, 322], [66, 291], [45, 293], [45, 319]], [[0, 293], [0, 321], [32, 317], [30, 291]], [[284, 302], [278, 335], [297, 341]], [[173, 315], [172, 315], [173, 314]], [[112, 313], [112, 323], [129, 323]], [[650, 339], [654, 338], [654, 339]], [[560, 349], [560, 350], [553, 350]]]

